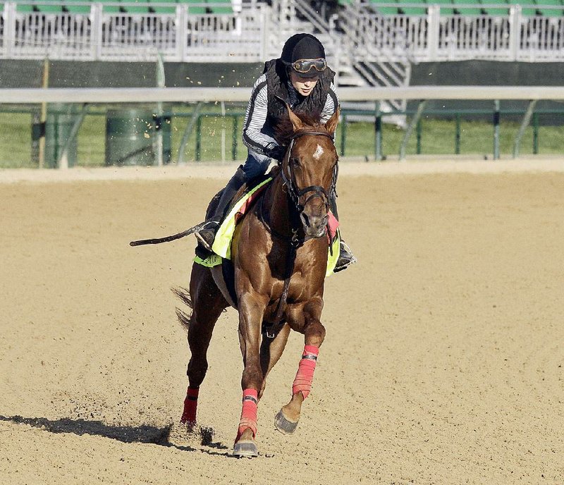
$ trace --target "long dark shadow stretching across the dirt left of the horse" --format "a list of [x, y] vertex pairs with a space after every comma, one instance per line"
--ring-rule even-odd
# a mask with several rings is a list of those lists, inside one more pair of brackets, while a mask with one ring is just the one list
[[142, 426], [111, 426], [100, 421], [85, 421], [85, 419], [62, 418], [51, 420], [44, 417], [7, 417], [1, 415], [0, 421], [27, 424], [34, 428], [44, 429], [50, 433], [72, 433], [79, 436], [91, 434], [115, 439], [122, 443], [152, 443], [183, 451], [196, 451], [195, 448], [190, 448], [190, 446], [177, 446], [169, 443], [168, 436], [171, 432], [172, 424], [164, 428], [157, 428], [147, 424]]

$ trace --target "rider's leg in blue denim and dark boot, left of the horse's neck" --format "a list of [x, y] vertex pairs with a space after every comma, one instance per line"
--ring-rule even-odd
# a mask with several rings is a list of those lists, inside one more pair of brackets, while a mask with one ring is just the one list
[[269, 159], [268, 156], [259, 154], [251, 149], [249, 150], [245, 164], [239, 166], [235, 175], [231, 177], [231, 180], [227, 183], [226, 188], [224, 188], [221, 192], [219, 202], [214, 208], [212, 214], [210, 214], [206, 220], [207, 224], [203, 229], [195, 233], [196, 239], [206, 250], [212, 250], [216, 232], [221, 224], [221, 221], [223, 221], [223, 217], [226, 216], [229, 204], [231, 204], [231, 200], [237, 191], [245, 182], [266, 173], [266, 169], [269, 167], [270, 161], [271, 159]]

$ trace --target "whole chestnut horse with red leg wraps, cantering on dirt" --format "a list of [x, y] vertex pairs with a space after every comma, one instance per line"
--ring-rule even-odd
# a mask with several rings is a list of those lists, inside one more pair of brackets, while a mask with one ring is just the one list
[[[302, 403], [312, 385], [319, 347], [324, 278], [328, 257], [329, 195], [335, 190], [338, 156], [333, 136], [339, 111], [325, 124], [303, 121], [288, 109], [290, 146], [274, 180], [241, 221], [233, 238], [235, 306], [243, 353], [243, 410], [233, 455], [257, 456], [257, 404], [266, 376], [280, 359], [290, 329], [302, 333], [305, 348], [293, 383], [290, 402], [276, 416], [276, 428], [293, 433]], [[188, 393], [181, 422], [195, 424], [200, 384], [207, 372], [207, 350], [219, 314], [230, 305], [221, 291], [221, 266], [195, 263], [190, 295], [178, 292], [190, 305], [190, 315], [178, 311], [188, 328], [191, 357]], [[216, 270], [216, 271], [214, 271]], [[221, 273], [221, 269], [219, 269]], [[224, 287], [224, 285], [223, 285]], [[233, 301], [231, 300], [231, 303]]]

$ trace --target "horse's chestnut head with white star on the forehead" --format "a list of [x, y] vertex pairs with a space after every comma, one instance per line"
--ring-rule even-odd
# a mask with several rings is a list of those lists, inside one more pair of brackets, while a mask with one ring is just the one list
[[288, 115], [293, 134], [282, 161], [282, 177], [298, 209], [305, 234], [320, 238], [325, 235], [329, 196], [337, 183], [338, 155], [333, 136], [339, 109], [325, 124], [302, 121], [289, 107]]

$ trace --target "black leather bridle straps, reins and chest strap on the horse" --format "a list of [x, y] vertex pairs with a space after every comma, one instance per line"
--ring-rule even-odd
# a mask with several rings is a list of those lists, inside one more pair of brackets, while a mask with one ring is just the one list
[[[330, 135], [329, 133], [323, 133], [317, 131], [305, 131], [303, 133], [297, 133], [291, 138], [290, 146], [286, 150], [286, 156], [284, 156], [284, 159], [286, 160], [286, 166], [288, 167], [289, 178], [288, 176], [286, 176], [286, 173], [284, 173], [284, 168], [282, 164], [279, 164], [281, 168], [279, 173], [283, 180], [283, 185], [286, 185], [286, 187], [288, 188], [288, 196], [292, 200], [294, 204], [294, 208], [296, 209], [295, 211], [292, 211], [290, 214], [290, 229], [292, 231], [292, 235], [288, 237], [285, 235], [278, 234], [271, 228], [269, 223], [266, 222], [266, 220], [264, 219], [264, 212], [262, 210], [263, 207], [262, 202], [264, 201], [264, 196], [261, 198], [261, 204], [258, 211], [259, 220], [264, 224], [266, 230], [269, 231], [269, 233], [275, 235], [278, 238], [286, 239], [290, 241], [290, 250], [288, 251], [288, 258], [286, 259], [286, 277], [284, 278], [284, 286], [282, 289], [282, 294], [280, 295], [280, 299], [278, 300], [278, 306], [276, 307], [276, 314], [274, 316], [274, 321], [271, 324], [264, 326], [264, 332], [266, 334], [266, 337], [271, 339], [276, 337], [278, 332], [281, 331], [282, 327], [285, 324], [285, 322], [282, 319], [282, 315], [284, 309], [286, 308], [286, 302], [288, 301], [288, 291], [290, 289], [290, 279], [292, 278], [292, 274], [294, 271], [295, 255], [296, 252], [298, 251], [298, 247], [300, 247], [300, 245], [302, 245], [306, 240], [306, 238], [302, 240], [298, 238], [298, 228], [296, 227], [297, 226], [296, 221], [298, 221], [299, 218], [296, 216], [299, 215], [304, 210], [305, 205], [307, 204], [307, 202], [309, 202], [309, 200], [312, 199], [312, 197], [324, 198], [325, 206], [327, 209], [329, 208], [329, 195], [327, 194], [326, 190], [323, 187], [321, 187], [321, 185], [309, 185], [306, 188], [302, 188], [302, 189], [298, 188], [298, 185], [295, 183], [295, 174], [290, 164], [288, 163], [290, 159], [290, 155], [292, 153], [292, 148], [295, 139], [302, 137], [304, 135], [325, 136], [331, 138], [331, 141], [333, 140], [333, 136]], [[336, 192], [337, 176], [338, 176], [338, 164], [335, 164], [335, 168], [333, 168], [333, 178], [331, 180], [331, 187], [329, 188], [330, 194], [334, 193], [335, 195], [337, 195]], [[302, 205], [299, 202], [300, 197], [302, 195], [307, 194], [307, 192], [314, 192], [314, 193], [312, 195], [309, 195], [309, 197], [305, 199], [305, 202]]]

